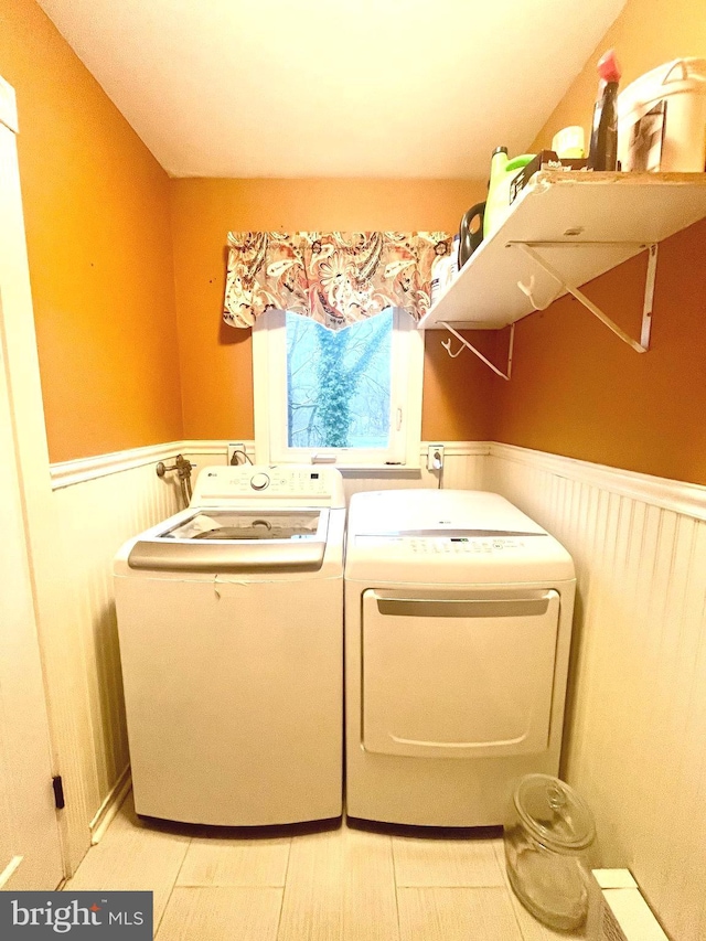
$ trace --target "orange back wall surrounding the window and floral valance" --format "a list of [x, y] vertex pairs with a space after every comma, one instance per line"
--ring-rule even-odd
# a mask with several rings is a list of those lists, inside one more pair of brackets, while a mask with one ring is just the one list
[[[172, 233], [186, 438], [252, 438], [250, 331], [221, 321], [229, 229], [456, 232], [485, 183], [448, 180], [173, 180]], [[491, 374], [427, 334], [422, 436], [485, 440]]]

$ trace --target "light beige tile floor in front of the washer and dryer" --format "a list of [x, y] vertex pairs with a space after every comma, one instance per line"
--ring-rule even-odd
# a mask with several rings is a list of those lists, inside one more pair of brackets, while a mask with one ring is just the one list
[[143, 822], [131, 795], [66, 888], [152, 890], [158, 941], [580, 937], [544, 928], [516, 901], [499, 835], [445, 838], [344, 824], [248, 838]]

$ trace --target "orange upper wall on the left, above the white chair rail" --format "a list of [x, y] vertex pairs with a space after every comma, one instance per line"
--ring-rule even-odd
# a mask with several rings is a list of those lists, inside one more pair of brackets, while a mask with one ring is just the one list
[[0, 0], [52, 461], [182, 437], [169, 179], [33, 0]]

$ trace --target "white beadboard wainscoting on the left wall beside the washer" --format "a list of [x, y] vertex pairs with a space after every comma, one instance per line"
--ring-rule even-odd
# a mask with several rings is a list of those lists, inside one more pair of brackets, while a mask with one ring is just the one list
[[[61, 477], [61, 474], [58, 474]], [[113, 592], [113, 557], [120, 545], [180, 509], [178, 490], [154, 462], [110, 472], [54, 491], [71, 597], [76, 675], [73, 695], [87, 698], [90, 728], [82, 749], [95, 764], [85, 781], [86, 828], [129, 763]]]

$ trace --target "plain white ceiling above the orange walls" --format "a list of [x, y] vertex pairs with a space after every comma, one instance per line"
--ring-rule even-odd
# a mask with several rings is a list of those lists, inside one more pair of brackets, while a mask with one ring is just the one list
[[40, 3], [173, 177], [472, 178], [625, 0]]

